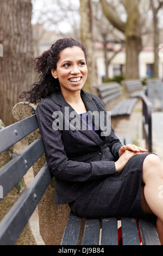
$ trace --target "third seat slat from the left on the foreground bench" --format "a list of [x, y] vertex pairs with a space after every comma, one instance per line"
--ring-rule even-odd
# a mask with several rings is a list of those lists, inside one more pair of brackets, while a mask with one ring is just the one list
[[101, 245], [118, 245], [117, 218], [103, 218]]

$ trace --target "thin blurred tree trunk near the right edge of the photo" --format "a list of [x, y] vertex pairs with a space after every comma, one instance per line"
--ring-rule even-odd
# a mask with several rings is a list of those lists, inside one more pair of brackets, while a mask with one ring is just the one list
[[153, 77], [159, 77], [159, 27], [158, 27], [158, 11], [163, 7], [163, 1], [150, 0], [151, 9], [153, 12], [153, 25], [154, 25], [154, 65], [153, 65]]

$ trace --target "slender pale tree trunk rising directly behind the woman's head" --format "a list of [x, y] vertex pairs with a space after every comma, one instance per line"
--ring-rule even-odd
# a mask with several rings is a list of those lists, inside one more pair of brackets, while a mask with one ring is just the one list
[[87, 52], [87, 81], [84, 90], [91, 92], [91, 88], [97, 85], [96, 59], [92, 36], [92, 9], [91, 0], [80, 0], [81, 40], [86, 46]]

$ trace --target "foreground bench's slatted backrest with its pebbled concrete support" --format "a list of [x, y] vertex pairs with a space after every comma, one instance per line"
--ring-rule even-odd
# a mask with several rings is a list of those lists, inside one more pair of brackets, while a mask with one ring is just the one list
[[[0, 185], [3, 188], [3, 198], [0, 200], [6, 199], [8, 193], [23, 179], [31, 166], [35, 177], [1, 221], [0, 245], [15, 244], [38, 203], [40, 234], [43, 240], [48, 245], [60, 245], [70, 212], [68, 205], [61, 208], [54, 206], [54, 178], [52, 179], [45, 160], [45, 150], [34, 111], [33, 105], [18, 103], [13, 110], [14, 116], [17, 119], [26, 119], [0, 130], [2, 154], [26, 136], [29, 144], [20, 154], [16, 154], [1, 167]], [[31, 114], [32, 116], [27, 117]]]

